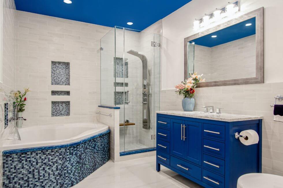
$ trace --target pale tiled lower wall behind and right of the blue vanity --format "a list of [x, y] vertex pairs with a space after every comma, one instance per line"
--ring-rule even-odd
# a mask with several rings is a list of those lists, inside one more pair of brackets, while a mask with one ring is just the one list
[[[174, 91], [161, 91], [161, 110], [182, 110], [182, 97]], [[203, 111], [202, 106], [214, 105], [224, 108], [223, 113], [263, 116], [262, 172], [283, 176], [283, 122], [273, 121], [273, 108], [269, 106], [282, 93], [283, 82], [197, 88], [194, 110]]]

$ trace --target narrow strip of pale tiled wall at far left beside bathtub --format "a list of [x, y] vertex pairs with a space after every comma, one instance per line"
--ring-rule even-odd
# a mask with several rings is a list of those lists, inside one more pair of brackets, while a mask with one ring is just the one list
[[[2, 0], [1, 0], [2, 1]], [[0, 3], [1, 4], [1, 3]], [[13, 0], [3, 0], [3, 82], [0, 83], [0, 140], [7, 139], [15, 126], [11, 122], [4, 130], [4, 103], [9, 103], [9, 117], [12, 116], [13, 95], [16, 89], [16, 7]], [[2, 32], [1, 31], [1, 32]], [[0, 141], [1, 142], [1, 141]], [[1, 144], [1, 143], [0, 143]], [[2, 151], [0, 151], [0, 187], [2, 187]]]

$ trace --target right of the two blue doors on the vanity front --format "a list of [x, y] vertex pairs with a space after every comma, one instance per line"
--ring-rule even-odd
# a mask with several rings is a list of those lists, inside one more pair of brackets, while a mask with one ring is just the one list
[[185, 159], [202, 164], [202, 127], [201, 123], [185, 121]]

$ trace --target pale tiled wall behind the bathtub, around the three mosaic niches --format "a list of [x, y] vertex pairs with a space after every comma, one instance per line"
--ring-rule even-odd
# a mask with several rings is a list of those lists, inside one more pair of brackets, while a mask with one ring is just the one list
[[[17, 11], [16, 88], [30, 87], [23, 126], [97, 121], [100, 41], [111, 28]], [[51, 61], [70, 62], [70, 86], [51, 85]], [[51, 117], [51, 90], [70, 91], [70, 116]]]

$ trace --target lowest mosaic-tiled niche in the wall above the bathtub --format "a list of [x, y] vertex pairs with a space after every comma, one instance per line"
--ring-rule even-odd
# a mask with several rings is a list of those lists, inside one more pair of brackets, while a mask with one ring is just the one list
[[51, 117], [70, 116], [70, 101], [51, 101]]

